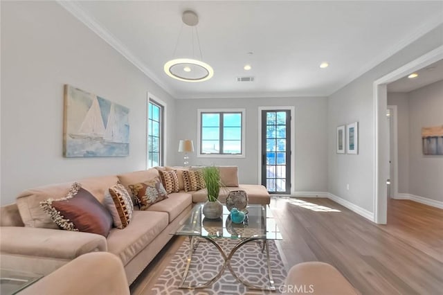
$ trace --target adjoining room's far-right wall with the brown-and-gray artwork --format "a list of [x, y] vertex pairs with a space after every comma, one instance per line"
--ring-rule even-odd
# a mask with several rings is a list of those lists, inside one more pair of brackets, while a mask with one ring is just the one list
[[425, 155], [422, 127], [443, 125], [443, 81], [408, 93], [409, 193], [443, 202], [443, 156]]

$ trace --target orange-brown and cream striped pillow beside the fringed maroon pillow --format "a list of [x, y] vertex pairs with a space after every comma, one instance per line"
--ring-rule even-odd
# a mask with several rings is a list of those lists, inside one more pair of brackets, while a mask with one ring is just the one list
[[122, 184], [111, 186], [105, 195], [104, 203], [112, 215], [114, 226], [117, 229], [125, 229], [134, 212], [134, 204], [126, 188]]

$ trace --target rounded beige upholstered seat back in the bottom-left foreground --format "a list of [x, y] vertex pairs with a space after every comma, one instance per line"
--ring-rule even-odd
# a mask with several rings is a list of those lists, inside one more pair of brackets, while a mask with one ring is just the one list
[[87, 253], [30, 285], [20, 295], [129, 295], [123, 264], [111, 253]]

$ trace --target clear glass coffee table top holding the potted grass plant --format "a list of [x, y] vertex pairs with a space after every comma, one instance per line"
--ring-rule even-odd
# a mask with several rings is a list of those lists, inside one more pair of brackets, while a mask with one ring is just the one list
[[196, 204], [188, 217], [180, 222], [173, 235], [188, 235], [208, 238], [257, 238], [262, 240], [282, 240], [282, 235], [266, 206], [251, 204], [246, 207], [244, 222], [235, 224], [230, 220], [230, 212], [223, 206], [223, 215], [218, 220], [209, 220], [201, 213], [204, 203]]

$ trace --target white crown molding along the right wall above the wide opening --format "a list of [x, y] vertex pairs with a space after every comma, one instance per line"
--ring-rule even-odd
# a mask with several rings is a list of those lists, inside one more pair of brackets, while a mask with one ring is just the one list
[[431, 18], [429, 21], [426, 21], [424, 24], [422, 24], [422, 26], [419, 26], [417, 30], [411, 33], [408, 37], [401, 39], [399, 42], [397, 42], [397, 44], [391, 46], [387, 51], [384, 51], [377, 57], [374, 57], [370, 62], [362, 66], [361, 69], [359, 69], [358, 71], [350, 73], [350, 75], [348, 75], [347, 78], [345, 78], [345, 82], [343, 82], [340, 87], [337, 87], [327, 96], [332, 96], [332, 94], [336, 93], [336, 91], [342, 89], [347, 84], [354, 81], [356, 78], [359, 78], [361, 75], [370, 71], [375, 66], [378, 66], [379, 64], [381, 64], [381, 62], [384, 62], [389, 57], [395, 55], [395, 53], [398, 53], [399, 51], [401, 51], [401, 49], [417, 41], [417, 39], [426, 35], [426, 33], [431, 32], [431, 30], [437, 28], [437, 26], [440, 26], [441, 24], [443, 24], [443, 12], [440, 12], [436, 17]]

